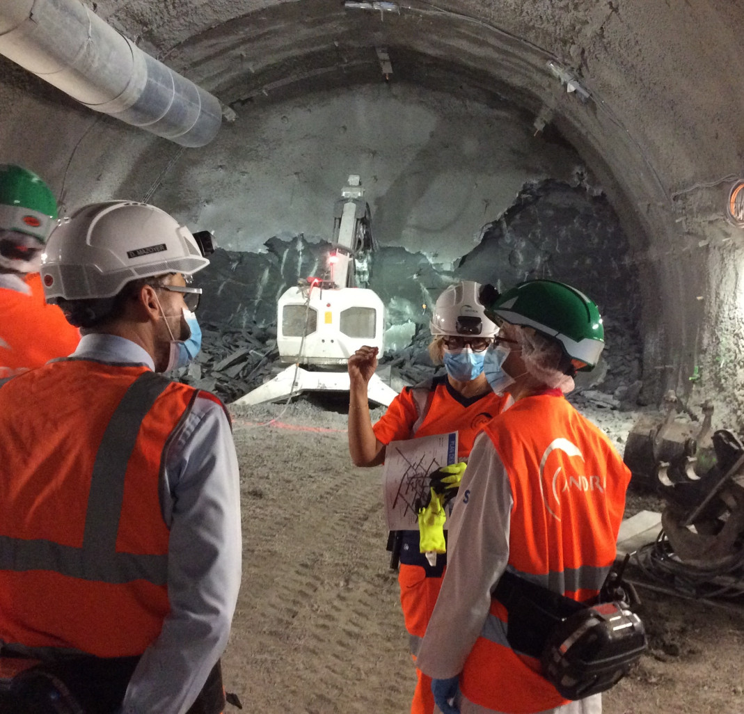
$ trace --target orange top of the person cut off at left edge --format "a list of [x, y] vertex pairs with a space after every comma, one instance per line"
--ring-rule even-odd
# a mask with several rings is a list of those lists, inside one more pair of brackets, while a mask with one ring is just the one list
[[62, 310], [44, 302], [39, 274], [26, 279], [31, 295], [0, 288], [0, 379], [73, 353], [80, 332]]

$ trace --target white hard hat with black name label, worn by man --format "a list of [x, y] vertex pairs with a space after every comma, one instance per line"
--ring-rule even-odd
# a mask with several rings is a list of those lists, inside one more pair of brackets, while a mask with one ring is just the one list
[[52, 231], [42, 260], [48, 301], [110, 298], [132, 280], [208, 266], [185, 225], [146, 203], [83, 206]]

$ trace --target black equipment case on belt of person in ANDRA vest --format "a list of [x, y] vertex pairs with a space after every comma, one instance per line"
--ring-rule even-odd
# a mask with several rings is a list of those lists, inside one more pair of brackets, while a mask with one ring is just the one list
[[[622, 592], [616, 570], [607, 583], [612, 594]], [[644, 625], [623, 599], [577, 602], [508, 572], [493, 596], [507, 608], [512, 649], [538, 658], [542, 676], [566, 699], [614, 686], [647, 649]]]

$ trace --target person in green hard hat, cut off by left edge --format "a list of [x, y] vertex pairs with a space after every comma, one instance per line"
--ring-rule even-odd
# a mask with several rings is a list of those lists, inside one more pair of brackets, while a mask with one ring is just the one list
[[0, 164], [0, 379], [67, 356], [80, 341], [39, 281], [57, 202], [31, 171]]

